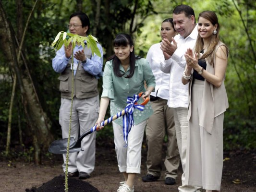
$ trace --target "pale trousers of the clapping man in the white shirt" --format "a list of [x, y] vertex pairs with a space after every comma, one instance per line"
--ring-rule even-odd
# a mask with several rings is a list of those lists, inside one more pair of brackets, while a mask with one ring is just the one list
[[196, 192], [197, 187], [185, 185], [185, 168], [186, 168], [186, 150], [187, 150], [187, 131], [188, 131], [188, 110], [187, 108], [173, 108], [177, 144], [180, 152], [183, 174], [182, 186], [179, 192]]

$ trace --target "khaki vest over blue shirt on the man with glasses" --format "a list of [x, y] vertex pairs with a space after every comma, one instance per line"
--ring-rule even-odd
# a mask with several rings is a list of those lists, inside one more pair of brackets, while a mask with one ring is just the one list
[[[91, 58], [92, 51], [87, 46], [84, 49], [85, 56]], [[86, 65], [86, 64], [85, 64]], [[66, 69], [61, 73], [60, 77], [60, 91], [61, 98], [71, 99], [72, 95], [72, 63], [71, 60], [67, 64]], [[79, 61], [77, 70], [73, 79], [73, 96], [76, 98], [90, 98], [98, 95], [98, 80], [94, 75], [86, 72]]]

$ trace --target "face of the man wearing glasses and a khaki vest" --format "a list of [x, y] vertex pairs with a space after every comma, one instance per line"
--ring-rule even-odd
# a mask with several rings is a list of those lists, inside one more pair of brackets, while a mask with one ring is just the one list
[[74, 16], [69, 21], [69, 31], [72, 34], [76, 34], [79, 36], [86, 36], [86, 32], [88, 30], [88, 26], [82, 27], [82, 22], [79, 17]]

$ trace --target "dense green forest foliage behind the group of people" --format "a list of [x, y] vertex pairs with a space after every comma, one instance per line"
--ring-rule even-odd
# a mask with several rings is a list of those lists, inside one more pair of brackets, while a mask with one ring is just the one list
[[[23, 1], [24, 25], [34, 1]], [[172, 16], [178, 4], [188, 4], [199, 12], [215, 11], [219, 17], [220, 37], [230, 49], [225, 85], [230, 108], [225, 113], [225, 149], [252, 149], [256, 147], [256, 3], [254, 0], [139, 0], [133, 17], [135, 0], [111, 0], [109, 16], [106, 17], [106, 1], [101, 0], [100, 19], [97, 26], [98, 41], [105, 50], [104, 60], [112, 52], [111, 39], [119, 32], [133, 35], [136, 54], [146, 57], [147, 50], [160, 41], [161, 22]], [[16, 0], [2, 0], [8, 18], [16, 30]], [[55, 52], [50, 48], [59, 31], [66, 31], [69, 16], [75, 12], [76, 0], [40, 0], [29, 23], [25, 36], [24, 53], [37, 88], [41, 104], [49, 116], [56, 139], [61, 137], [59, 126], [60, 93], [59, 74], [53, 71], [51, 60]], [[237, 6], [238, 10], [236, 9]], [[83, 11], [91, 21], [90, 32], [95, 23], [96, 1], [83, 1]], [[241, 16], [244, 24], [241, 20]], [[134, 18], [134, 20], [132, 20]], [[133, 24], [131, 24], [133, 21]], [[247, 35], [248, 34], [248, 35]], [[91, 34], [94, 35], [94, 34]], [[102, 80], [99, 81], [101, 93]], [[6, 142], [8, 112], [12, 92], [12, 76], [0, 49], [0, 144]], [[12, 118], [12, 145], [18, 144], [18, 127], [26, 128], [19, 90], [16, 90]], [[109, 115], [109, 114], [107, 114]], [[106, 116], [106, 118], [108, 118]], [[25, 135], [23, 135], [25, 138]], [[110, 126], [98, 132], [97, 142], [112, 140]], [[24, 144], [31, 146], [30, 139]]]

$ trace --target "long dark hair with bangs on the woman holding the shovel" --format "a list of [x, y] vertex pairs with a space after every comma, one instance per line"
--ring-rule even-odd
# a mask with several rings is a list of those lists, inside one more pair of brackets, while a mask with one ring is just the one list
[[[113, 41], [113, 47], [120, 47], [120, 46], [126, 47], [128, 45], [132, 47], [134, 46], [134, 42], [132, 37], [125, 33], [118, 34]], [[135, 60], [139, 58], [140, 57], [135, 56], [134, 48], [133, 48], [133, 51], [130, 53], [130, 74], [125, 76], [125, 78], [131, 78], [134, 75]], [[122, 77], [124, 73], [122, 74], [119, 70], [121, 61], [118, 59], [118, 57], [114, 54], [108, 60], [113, 60], [112, 62], [113, 62], [114, 74], [118, 77]]]

